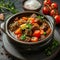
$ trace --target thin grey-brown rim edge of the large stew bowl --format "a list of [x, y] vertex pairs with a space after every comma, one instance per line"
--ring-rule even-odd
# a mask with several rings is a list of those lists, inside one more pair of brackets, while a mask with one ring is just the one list
[[47, 17], [45, 16], [45, 15], [43, 15], [42, 13], [38, 13], [38, 12], [35, 12], [35, 11], [24, 11], [24, 12], [21, 12], [21, 13], [16, 13], [16, 14], [14, 14], [13, 16], [11, 16], [6, 22], [5, 22], [5, 31], [6, 31], [6, 34], [8, 35], [8, 37], [10, 37], [12, 40], [14, 40], [15, 42], [18, 42], [18, 43], [22, 43], [22, 44], [39, 44], [39, 43], [43, 43], [43, 42], [45, 42], [45, 41], [47, 41], [47, 40], [49, 40], [49, 38], [51, 37], [51, 35], [53, 34], [53, 32], [54, 32], [54, 30], [52, 29], [52, 31], [51, 31], [51, 33], [45, 38], [45, 39], [43, 39], [43, 40], [41, 40], [41, 41], [38, 41], [38, 42], [24, 42], [24, 41], [19, 41], [19, 40], [17, 40], [17, 39], [15, 39], [14, 37], [12, 37], [10, 34], [9, 34], [9, 32], [8, 32], [8, 26], [7, 26], [7, 24], [8, 24], [8, 22], [13, 18], [13, 17], [16, 17], [17, 15], [19, 15], [19, 14], [23, 14], [23, 13], [36, 13], [36, 14], [39, 14], [39, 15], [42, 15], [42, 16], [44, 16], [46, 19], [47, 19]]

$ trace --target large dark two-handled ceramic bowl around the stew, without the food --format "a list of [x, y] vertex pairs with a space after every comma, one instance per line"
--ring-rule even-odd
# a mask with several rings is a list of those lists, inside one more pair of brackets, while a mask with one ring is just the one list
[[[18, 47], [19, 49], [23, 50], [38, 50], [41, 47], [47, 45], [47, 42], [52, 40], [53, 34], [54, 34], [54, 20], [52, 17], [49, 16], [44, 16], [44, 18], [48, 21], [50, 28], [51, 28], [51, 33], [46, 37], [45, 39], [38, 41], [38, 42], [23, 42], [15, 39], [9, 32], [9, 24], [14, 20], [15, 17], [22, 17], [22, 16], [30, 16], [32, 14], [37, 14], [37, 15], [42, 15], [41, 13], [35, 12], [35, 11], [25, 11], [22, 13], [17, 13], [13, 16], [11, 16], [8, 20], [4, 22], [4, 32], [7, 34], [7, 37], [9, 38], [9, 41], [14, 44], [14, 46]], [[2, 29], [1, 24], [1, 29]], [[2, 29], [3, 30], [3, 29]]]

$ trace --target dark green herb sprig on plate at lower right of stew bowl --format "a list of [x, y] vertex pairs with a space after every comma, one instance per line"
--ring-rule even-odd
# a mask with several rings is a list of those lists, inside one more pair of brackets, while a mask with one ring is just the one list
[[58, 41], [56, 41], [54, 39], [53, 42], [51, 43], [51, 45], [45, 49], [45, 51], [44, 51], [45, 54], [47, 56], [50, 56], [53, 53], [53, 50], [56, 49], [58, 46], [59, 46]]

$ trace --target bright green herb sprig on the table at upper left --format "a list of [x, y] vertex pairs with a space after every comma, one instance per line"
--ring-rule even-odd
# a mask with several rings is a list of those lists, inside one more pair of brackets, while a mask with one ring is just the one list
[[8, 2], [5, 2], [4, 0], [0, 1], [0, 10], [4, 12], [4, 9], [10, 11], [13, 14], [18, 12], [15, 8], [14, 3], [11, 2], [10, 0], [8, 0]]

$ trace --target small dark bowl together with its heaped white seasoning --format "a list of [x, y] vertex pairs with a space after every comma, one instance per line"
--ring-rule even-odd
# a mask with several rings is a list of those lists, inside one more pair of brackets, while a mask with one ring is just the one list
[[26, 11], [40, 11], [42, 3], [38, 0], [24, 0], [23, 9]]

